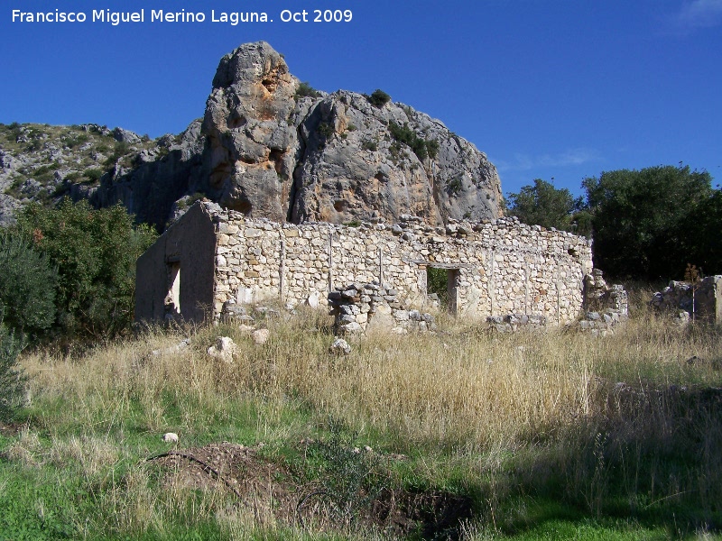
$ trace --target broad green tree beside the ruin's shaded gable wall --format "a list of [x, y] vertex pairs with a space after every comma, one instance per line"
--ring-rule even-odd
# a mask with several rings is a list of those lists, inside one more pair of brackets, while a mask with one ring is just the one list
[[156, 234], [134, 227], [123, 206], [94, 210], [64, 199], [57, 209], [30, 205], [18, 227], [58, 270], [58, 326], [68, 337], [107, 338], [133, 321], [135, 260]]

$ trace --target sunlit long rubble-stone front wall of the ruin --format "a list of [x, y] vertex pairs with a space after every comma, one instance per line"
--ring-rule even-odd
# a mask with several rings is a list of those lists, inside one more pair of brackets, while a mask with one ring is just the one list
[[445, 229], [414, 216], [391, 226], [292, 225], [201, 205], [208, 206], [218, 239], [217, 319], [231, 298], [326, 305], [330, 291], [374, 281], [396, 289], [404, 306], [422, 308], [429, 302], [426, 270], [434, 267], [447, 271], [449, 305], [458, 315], [537, 314], [562, 325], [579, 316], [583, 279], [592, 271], [587, 239], [515, 218], [451, 221]]

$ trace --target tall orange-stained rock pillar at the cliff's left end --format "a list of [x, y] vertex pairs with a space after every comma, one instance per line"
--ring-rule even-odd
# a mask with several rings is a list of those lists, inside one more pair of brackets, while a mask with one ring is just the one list
[[248, 215], [284, 221], [296, 160], [298, 80], [268, 43], [249, 43], [220, 61], [203, 131], [210, 150], [210, 188], [218, 202]]

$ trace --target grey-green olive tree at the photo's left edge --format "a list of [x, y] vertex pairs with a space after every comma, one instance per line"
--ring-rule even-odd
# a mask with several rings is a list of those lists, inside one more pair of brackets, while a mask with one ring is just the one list
[[13, 231], [0, 233], [0, 311], [16, 332], [42, 335], [55, 321], [57, 275], [49, 258]]

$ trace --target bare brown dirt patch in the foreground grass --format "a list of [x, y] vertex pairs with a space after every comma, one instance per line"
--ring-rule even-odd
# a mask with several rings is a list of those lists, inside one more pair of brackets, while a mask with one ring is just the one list
[[[413, 534], [422, 539], [457, 539], [472, 517], [472, 500], [445, 491], [386, 488], [353, 516], [339, 509], [319, 480], [296, 481], [287, 467], [259, 456], [258, 447], [223, 442], [153, 456], [161, 482], [200, 491], [224, 491], [254, 516], [309, 530], [373, 527], [389, 537]], [[363, 495], [359, 495], [363, 499]]]

